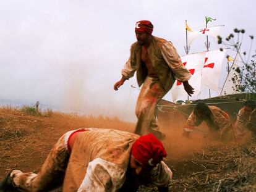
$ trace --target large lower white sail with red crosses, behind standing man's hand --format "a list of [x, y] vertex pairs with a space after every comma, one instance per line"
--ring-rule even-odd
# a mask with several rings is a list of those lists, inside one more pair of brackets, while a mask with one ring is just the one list
[[[218, 91], [218, 81], [224, 54], [224, 51], [214, 50], [181, 57], [183, 64], [191, 73], [189, 84], [195, 91], [192, 94], [192, 98], [197, 97], [201, 93], [202, 86]], [[172, 101], [187, 98], [187, 93], [179, 81], [176, 81], [173, 88], [171, 88], [171, 97]]]

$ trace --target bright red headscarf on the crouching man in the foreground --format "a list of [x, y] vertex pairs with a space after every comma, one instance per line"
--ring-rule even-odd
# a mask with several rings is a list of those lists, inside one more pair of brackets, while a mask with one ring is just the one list
[[155, 135], [140, 136], [132, 145], [132, 156], [143, 165], [156, 165], [166, 157], [163, 144]]

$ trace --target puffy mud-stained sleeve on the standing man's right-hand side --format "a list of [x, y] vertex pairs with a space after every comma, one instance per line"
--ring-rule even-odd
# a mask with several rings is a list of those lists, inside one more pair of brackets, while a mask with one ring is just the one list
[[181, 82], [189, 80], [191, 77], [189, 70], [182, 64], [181, 57], [177, 54], [171, 42], [166, 42], [161, 50], [164, 61], [168, 64], [174, 74], [174, 78]]

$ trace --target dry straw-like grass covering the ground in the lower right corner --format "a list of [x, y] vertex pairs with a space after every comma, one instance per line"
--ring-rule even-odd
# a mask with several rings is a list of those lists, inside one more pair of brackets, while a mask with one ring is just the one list
[[256, 139], [242, 146], [207, 146], [181, 162], [190, 164], [185, 175], [174, 179], [174, 191], [255, 191]]

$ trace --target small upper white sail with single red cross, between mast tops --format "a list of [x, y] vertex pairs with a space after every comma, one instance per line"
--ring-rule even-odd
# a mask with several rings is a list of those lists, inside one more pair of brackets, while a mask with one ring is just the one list
[[223, 25], [215, 26], [215, 27], [207, 27], [207, 28], [202, 28], [201, 30], [198, 31], [191, 31], [187, 34], [187, 44], [190, 45], [192, 41], [195, 40], [198, 36], [212, 36], [213, 38], [217, 39], [217, 36], [220, 35], [220, 28]]

